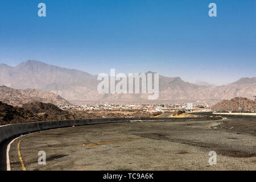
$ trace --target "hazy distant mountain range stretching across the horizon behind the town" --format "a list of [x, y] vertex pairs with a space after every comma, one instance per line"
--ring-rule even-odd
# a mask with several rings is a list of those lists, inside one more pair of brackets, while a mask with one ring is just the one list
[[[148, 72], [151, 73], [151, 72]], [[15, 89], [40, 89], [55, 93], [69, 101], [146, 101], [147, 94], [100, 94], [97, 75], [28, 60], [15, 67], [0, 64], [0, 85]], [[205, 82], [192, 84], [180, 77], [159, 75], [160, 101], [218, 101], [239, 96], [252, 99], [256, 94], [256, 77], [241, 78], [227, 85]]]

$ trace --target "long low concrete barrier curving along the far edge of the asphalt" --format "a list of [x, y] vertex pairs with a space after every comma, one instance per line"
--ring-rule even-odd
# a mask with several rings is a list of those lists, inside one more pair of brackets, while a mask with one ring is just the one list
[[221, 117], [202, 117], [202, 118], [102, 118], [102, 119], [80, 119], [68, 121], [43, 121], [31, 123], [18, 123], [12, 125], [0, 126], [0, 144], [7, 139], [19, 136], [21, 134], [33, 133], [36, 131], [57, 129], [61, 127], [82, 126], [82, 125], [98, 125], [104, 123], [118, 122], [141, 122], [141, 121], [203, 121], [217, 120]]

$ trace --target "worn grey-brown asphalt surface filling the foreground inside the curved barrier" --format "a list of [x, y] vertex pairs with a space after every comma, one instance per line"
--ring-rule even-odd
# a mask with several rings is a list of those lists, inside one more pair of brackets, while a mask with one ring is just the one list
[[[134, 122], [41, 131], [11, 144], [11, 169], [22, 170], [19, 150], [27, 170], [256, 170], [255, 122]], [[46, 152], [46, 165], [38, 164], [39, 151]], [[210, 151], [217, 152], [216, 165], [208, 163]]]

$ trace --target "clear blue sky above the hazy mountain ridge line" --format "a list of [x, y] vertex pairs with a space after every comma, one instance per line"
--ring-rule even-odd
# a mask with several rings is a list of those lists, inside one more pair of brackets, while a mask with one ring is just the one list
[[[217, 17], [208, 16], [211, 2]], [[226, 84], [256, 76], [255, 17], [254, 0], [1, 0], [0, 63]]]

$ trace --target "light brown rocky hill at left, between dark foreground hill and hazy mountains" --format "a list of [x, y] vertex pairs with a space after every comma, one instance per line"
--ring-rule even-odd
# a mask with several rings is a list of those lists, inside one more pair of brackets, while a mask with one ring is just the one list
[[13, 106], [36, 101], [55, 105], [71, 105], [70, 102], [54, 93], [39, 89], [13, 89], [7, 86], [0, 86], [0, 101]]

